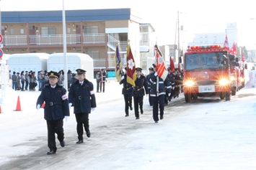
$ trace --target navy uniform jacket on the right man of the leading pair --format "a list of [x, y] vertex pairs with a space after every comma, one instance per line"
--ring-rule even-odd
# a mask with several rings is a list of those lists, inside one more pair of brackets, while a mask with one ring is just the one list
[[80, 85], [76, 80], [69, 89], [69, 103], [74, 105], [74, 113], [91, 113], [91, 109], [96, 108], [92, 82], [84, 79], [83, 85]]

